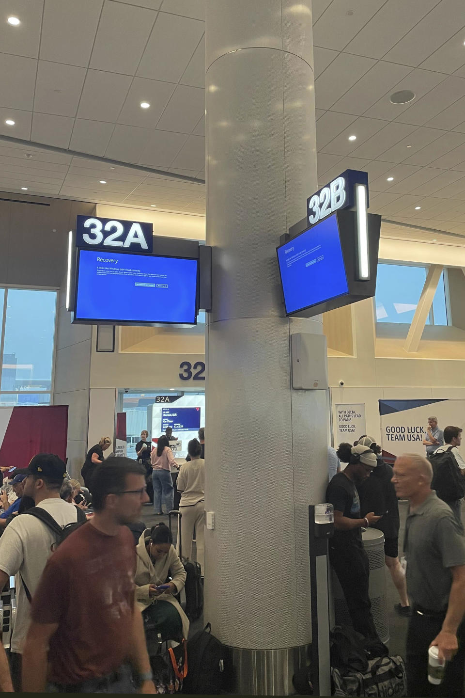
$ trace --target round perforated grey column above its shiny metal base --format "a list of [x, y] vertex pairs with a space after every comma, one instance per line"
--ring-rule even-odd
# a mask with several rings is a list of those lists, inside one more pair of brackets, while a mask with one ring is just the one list
[[328, 482], [326, 393], [291, 389], [275, 248], [317, 189], [310, 0], [206, 0], [205, 618], [229, 646], [307, 644], [307, 507]]

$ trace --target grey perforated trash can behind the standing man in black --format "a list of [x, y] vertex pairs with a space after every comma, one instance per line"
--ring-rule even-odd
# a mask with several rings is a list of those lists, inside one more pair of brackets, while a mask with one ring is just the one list
[[[389, 641], [388, 604], [386, 598], [386, 567], [384, 562], [384, 534], [377, 528], [362, 532], [363, 547], [369, 560], [369, 599], [372, 602], [374, 627], [379, 639]], [[337, 625], [352, 625], [349, 609], [339, 579], [332, 570], [334, 615]]]

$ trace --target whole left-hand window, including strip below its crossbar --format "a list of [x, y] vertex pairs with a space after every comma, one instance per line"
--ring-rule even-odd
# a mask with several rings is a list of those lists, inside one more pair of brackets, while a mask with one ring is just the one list
[[0, 406], [49, 405], [56, 291], [0, 289]]

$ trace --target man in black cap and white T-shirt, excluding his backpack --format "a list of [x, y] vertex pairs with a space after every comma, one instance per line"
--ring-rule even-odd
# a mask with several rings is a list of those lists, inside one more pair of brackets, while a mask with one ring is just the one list
[[[59, 526], [75, 523], [77, 507], [60, 498], [60, 487], [66, 477], [66, 466], [61, 458], [40, 453], [33, 457], [27, 471], [24, 496], [33, 498], [36, 507], [45, 509]], [[43, 521], [26, 513], [15, 517], [0, 538], [0, 588], [10, 576], [16, 575], [17, 615], [10, 645], [16, 691], [21, 690], [21, 655], [30, 622], [28, 594], [32, 597], [35, 593], [55, 540], [56, 536]]]

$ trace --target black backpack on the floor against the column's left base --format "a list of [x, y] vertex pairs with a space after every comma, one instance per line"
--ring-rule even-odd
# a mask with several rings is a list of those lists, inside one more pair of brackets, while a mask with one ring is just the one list
[[188, 641], [188, 665], [183, 693], [218, 695], [222, 692], [227, 676], [227, 650], [211, 634], [210, 623]]

